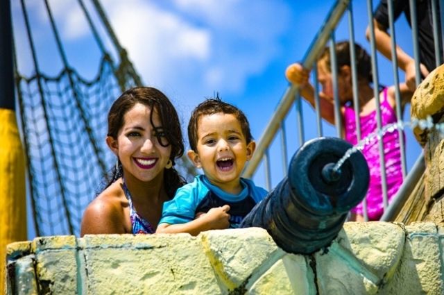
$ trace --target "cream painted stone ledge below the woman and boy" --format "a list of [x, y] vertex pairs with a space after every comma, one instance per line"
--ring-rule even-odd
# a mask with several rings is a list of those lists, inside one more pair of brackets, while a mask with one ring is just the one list
[[7, 294], [443, 294], [444, 228], [345, 223], [314, 255], [262, 228], [38, 237], [8, 246]]

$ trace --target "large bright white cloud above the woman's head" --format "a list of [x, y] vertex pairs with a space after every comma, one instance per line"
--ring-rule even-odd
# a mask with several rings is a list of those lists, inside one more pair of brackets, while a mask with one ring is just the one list
[[109, 0], [104, 6], [121, 44], [147, 83], [171, 83], [176, 74], [187, 73], [180, 65], [205, 62], [211, 54], [207, 29], [152, 2]]

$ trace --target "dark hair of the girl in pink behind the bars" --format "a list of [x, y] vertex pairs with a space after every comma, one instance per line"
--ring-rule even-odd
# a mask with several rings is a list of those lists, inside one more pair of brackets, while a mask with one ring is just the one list
[[[336, 43], [335, 49], [338, 70], [340, 70], [343, 65], [351, 66], [350, 42], [338, 42]], [[355, 43], [355, 55], [358, 79], [365, 78], [368, 82], [371, 83], [373, 81], [373, 76], [370, 56], [368, 55], [367, 51], [357, 43]], [[323, 53], [321, 53], [319, 61], [323, 61], [325, 67], [327, 67], [330, 73], [332, 72], [332, 67], [330, 64], [330, 47], [325, 47]]]

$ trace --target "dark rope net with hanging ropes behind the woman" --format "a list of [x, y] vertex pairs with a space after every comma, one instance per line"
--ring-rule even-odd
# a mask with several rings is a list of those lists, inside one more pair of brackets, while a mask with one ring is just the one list
[[[35, 65], [35, 74], [26, 77], [17, 70], [15, 58], [18, 119], [28, 158], [28, 194], [37, 236], [79, 235], [83, 210], [100, 192], [116, 161], [105, 144], [108, 110], [123, 90], [142, 83], [126, 51], [116, 44], [108, 21], [101, 20], [114, 38], [120, 58], [118, 64], [103, 49], [103, 42], [89, 15], [86, 17], [103, 54], [98, 60], [99, 70], [95, 78], [82, 78], [67, 62], [49, 3], [44, 2], [64, 66], [57, 76], [47, 76], [40, 71], [22, 0]], [[83, 2], [78, 2], [86, 14]], [[93, 5], [104, 17], [99, 2], [94, 0]], [[194, 174], [187, 162], [180, 161], [178, 165], [182, 175]]]

